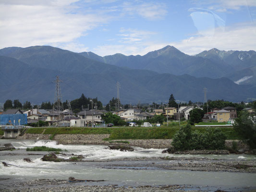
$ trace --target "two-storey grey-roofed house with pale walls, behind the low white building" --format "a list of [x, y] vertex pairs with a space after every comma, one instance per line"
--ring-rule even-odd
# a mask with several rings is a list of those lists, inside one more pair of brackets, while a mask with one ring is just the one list
[[91, 127], [95, 125], [105, 126], [105, 121], [101, 120], [103, 113], [98, 110], [89, 110], [89, 111], [81, 111], [78, 114], [78, 117], [81, 120], [81, 126]]

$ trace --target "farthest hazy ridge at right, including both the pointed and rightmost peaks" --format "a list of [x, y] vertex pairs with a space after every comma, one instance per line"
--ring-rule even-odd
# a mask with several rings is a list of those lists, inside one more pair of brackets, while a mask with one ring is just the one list
[[[174, 48], [166, 46], [151, 51], [144, 56], [114, 54], [100, 57], [92, 52], [80, 53], [84, 57], [130, 69], [146, 69], [158, 73], [174, 75], [189, 74], [195, 77], [230, 77], [233, 73], [256, 66], [255, 51], [223, 51], [217, 48], [189, 56]], [[237, 81], [240, 77], [236, 77]], [[254, 84], [254, 82], [247, 82]]]

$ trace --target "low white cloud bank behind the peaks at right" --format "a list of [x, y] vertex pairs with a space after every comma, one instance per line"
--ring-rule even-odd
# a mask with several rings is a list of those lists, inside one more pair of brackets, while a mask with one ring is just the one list
[[[206, 33], [207, 34], [207, 33]], [[240, 25], [236, 28], [218, 29], [214, 36], [191, 36], [180, 42], [170, 43], [186, 54], [194, 55], [204, 50], [255, 50], [256, 26]]]

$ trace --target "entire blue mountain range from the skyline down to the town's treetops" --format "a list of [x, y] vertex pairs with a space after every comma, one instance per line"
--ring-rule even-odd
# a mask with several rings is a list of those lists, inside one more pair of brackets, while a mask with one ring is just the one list
[[63, 100], [84, 93], [106, 104], [117, 95], [117, 81], [123, 104], [166, 102], [171, 93], [179, 100], [203, 101], [204, 87], [211, 100], [256, 98], [255, 51], [211, 49], [189, 56], [167, 46], [144, 56], [100, 57], [92, 52], [34, 46], [0, 49], [0, 102], [53, 101], [56, 75], [62, 80]]

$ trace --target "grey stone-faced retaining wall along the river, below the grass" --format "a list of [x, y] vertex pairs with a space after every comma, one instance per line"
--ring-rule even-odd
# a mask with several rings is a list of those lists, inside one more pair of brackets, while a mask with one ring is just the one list
[[[23, 136], [17, 137], [17, 139], [32, 139], [32, 140], [47, 140], [50, 134], [30, 134], [25, 133]], [[54, 136], [54, 140], [58, 144], [100, 144], [110, 145], [109, 141], [103, 141], [105, 138], [109, 138], [110, 134], [57, 134]], [[121, 141], [121, 140], [114, 140]], [[137, 146], [142, 148], [156, 148], [164, 149], [171, 146], [171, 139], [145, 139], [145, 140], [122, 140], [130, 142], [130, 146]], [[232, 141], [237, 142], [238, 149], [248, 150], [248, 146], [239, 140], [226, 140], [226, 146], [231, 147]]]

